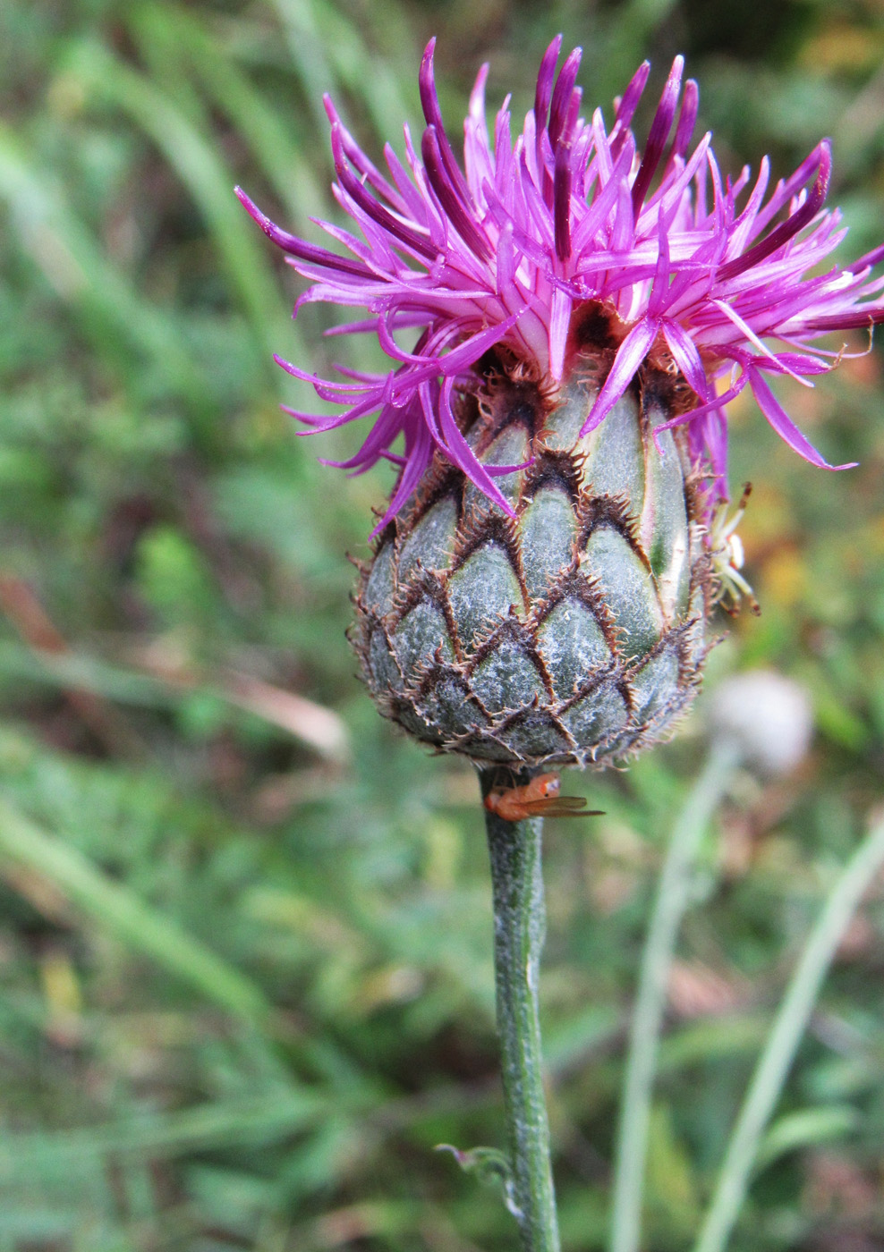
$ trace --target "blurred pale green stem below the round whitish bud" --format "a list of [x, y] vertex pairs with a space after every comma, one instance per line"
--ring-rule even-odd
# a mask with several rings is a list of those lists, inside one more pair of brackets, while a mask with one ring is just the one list
[[712, 746], [706, 765], [675, 823], [666, 849], [632, 1010], [620, 1111], [610, 1252], [639, 1249], [647, 1126], [675, 944], [690, 900], [694, 863], [700, 840], [727, 786], [738, 757], [736, 747], [729, 741], [720, 741]]

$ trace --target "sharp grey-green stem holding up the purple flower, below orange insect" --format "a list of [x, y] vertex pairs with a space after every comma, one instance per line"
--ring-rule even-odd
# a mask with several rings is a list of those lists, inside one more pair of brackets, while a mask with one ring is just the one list
[[[482, 770], [482, 795], [496, 770]], [[518, 779], [520, 782], [527, 779]], [[486, 810], [495, 908], [495, 984], [503, 1107], [512, 1169], [511, 1208], [523, 1252], [558, 1252], [558, 1221], [543, 1096], [537, 984], [546, 915], [542, 819], [505, 821]]]

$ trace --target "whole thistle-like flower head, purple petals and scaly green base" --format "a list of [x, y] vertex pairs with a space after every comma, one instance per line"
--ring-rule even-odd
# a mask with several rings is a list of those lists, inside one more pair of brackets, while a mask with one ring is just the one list
[[[644, 150], [630, 123], [645, 63], [607, 130], [581, 116], [580, 50], [543, 56], [515, 143], [493, 139], [487, 66], [462, 164], [442, 124], [433, 43], [419, 74], [419, 153], [372, 164], [331, 101], [334, 195], [359, 235], [332, 252], [245, 208], [324, 300], [367, 317], [384, 374], [307, 379], [376, 414], [342, 468], [398, 467], [357, 598], [359, 652], [384, 711], [483, 760], [604, 762], [654, 741], [691, 697], [721, 575], [725, 411], [746, 386], [800, 456], [829, 466], [771, 389], [813, 386], [843, 353], [820, 339], [884, 319], [884, 247], [821, 263], [844, 235], [823, 208], [820, 143], [769, 189], [765, 158], [722, 180], [709, 134], [691, 150], [696, 84], [676, 58]], [[720, 527], [719, 527], [720, 530]]]

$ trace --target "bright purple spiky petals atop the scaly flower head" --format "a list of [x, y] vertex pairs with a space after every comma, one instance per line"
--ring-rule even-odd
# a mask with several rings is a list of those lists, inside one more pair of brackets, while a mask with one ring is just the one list
[[[616, 103], [610, 131], [600, 110], [581, 116], [580, 49], [556, 65], [561, 36], [546, 50], [533, 109], [512, 141], [508, 99], [485, 115], [488, 66], [480, 70], [465, 121], [463, 164], [442, 124], [433, 48], [423, 55], [421, 101], [427, 120], [406, 160], [384, 149], [388, 175], [346, 130], [329, 99], [334, 197], [359, 234], [318, 224], [341, 247], [327, 250], [274, 225], [240, 200], [265, 234], [311, 282], [302, 303], [324, 300], [367, 310], [333, 333], [377, 334], [392, 361], [386, 374], [337, 367], [324, 381], [279, 364], [342, 407], [334, 417], [289, 411], [312, 431], [376, 414], [368, 437], [342, 468], [362, 472], [379, 458], [399, 466], [383, 526], [406, 502], [436, 449], [510, 512], [457, 423], [457, 397], [475, 387], [473, 367], [495, 344], [531, 363], [555, 394], [567, 374], [570, 331], [587, 303], [614, 317], [620, 346], [587, 417], [602, 422], [649, 354], [677, 369], [696, 403], [666, 423], [685, 424], [697, 468], [710, 478], [709, 503], [726, 498], [726, 404], [749, 387], [761, 412], [806, 461], [829, 466], [791, 422], [770, 387], [775, 376], [813, 386], [841, 353], [818, 346], [831, 331], [884, 321], [884, 278], [873, 267], [884, 247], [850, 269], [821, 263], [844, 238], [838, 209], [824, 209], [831, 172], [823, 140], [769, 190], [765, 156], [722, 180], [706, 134], [690, 150], [697, 88], [681, 84], [676, 58], [640, 151], [630, 123], [649, 75], [645, 61]], [[670, 138], [671, 136], [671, 138]], [[411, 336], [411, 349], [402, 346]], [[393, 452], [402, 436], [402, 448]]]

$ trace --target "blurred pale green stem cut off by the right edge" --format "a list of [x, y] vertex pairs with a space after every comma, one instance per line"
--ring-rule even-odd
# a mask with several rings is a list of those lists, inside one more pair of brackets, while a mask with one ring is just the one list
[[694, 1252], [724, 1252], [746, 1198], [761, 1137], [780, 1098], [823, 979], [863, 894], [884, 863], [879, 819], [835, 880], [810, 931], [753, 1074]]

